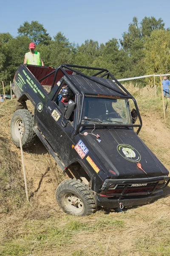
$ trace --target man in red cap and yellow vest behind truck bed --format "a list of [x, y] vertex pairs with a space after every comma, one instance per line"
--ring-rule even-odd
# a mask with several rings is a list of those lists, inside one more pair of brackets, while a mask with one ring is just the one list
[[44, 66], [40, 52], [35, 52], [35, 44], [33, 42], [29, 44], [29, 52], [25, 54], [24, 64]]

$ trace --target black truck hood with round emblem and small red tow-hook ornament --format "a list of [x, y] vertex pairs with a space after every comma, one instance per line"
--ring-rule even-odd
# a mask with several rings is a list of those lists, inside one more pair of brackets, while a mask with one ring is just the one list
[[[81, 140], [89, 147], [89, 155], [98, 159], [101, 170], [111, 178], [157, 177], [169, 172], [132, 129], [83, 129]], [[99, 166], [98, 166], [99, 167]], [[100, 174], [100, 173], [99, 173]]]

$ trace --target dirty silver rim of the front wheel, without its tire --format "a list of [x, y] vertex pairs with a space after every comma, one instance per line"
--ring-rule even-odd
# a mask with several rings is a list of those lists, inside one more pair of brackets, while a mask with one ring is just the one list
[[73, 193], [66, 193], [64, 195], [64, 204], [69, 211], [74, 213], [80, 213], [84, 210], [84, 204], [82, 200]]

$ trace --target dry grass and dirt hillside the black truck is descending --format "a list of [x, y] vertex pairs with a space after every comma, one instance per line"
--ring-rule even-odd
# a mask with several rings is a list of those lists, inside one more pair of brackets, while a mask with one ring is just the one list
[[[170, 170], [170, 106], [162, 118], [161, 99], [149, 88], [135, 94], [142, 114], [139, 137]], [[66, 178], [42, 143], [24, 151], [30, 204], [26, 202], [20, 150], [10, 139], [16, 100], [0, 104], [0, 256], [169, 256], [170, 187], [152, 204], [124, 213], [100, 209], [94, 215], [66, 215], [54, 191]]]

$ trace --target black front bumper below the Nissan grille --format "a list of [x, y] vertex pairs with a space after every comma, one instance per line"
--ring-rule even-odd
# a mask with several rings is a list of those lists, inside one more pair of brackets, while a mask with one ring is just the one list
[[103, 197], [100, 195], [96, 195], [97, 203], [99, 206], [107, 207], [110, 209], [119, 207], [119, 203], [122, 203], [124, 207], [127, 206], [135, 206], [135, 205], [142, 205], [142, 204], [148, 204], [151, 201], [155, 200], [156, 198], [159, 198], [163, 194], [163, 190], [157, 191], [153, 193], [150, 197], [146, 198], [133, 198], [133, 199], [112, 199], [111, 197]]

